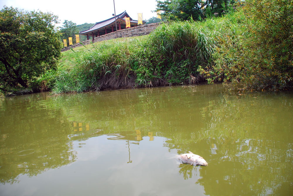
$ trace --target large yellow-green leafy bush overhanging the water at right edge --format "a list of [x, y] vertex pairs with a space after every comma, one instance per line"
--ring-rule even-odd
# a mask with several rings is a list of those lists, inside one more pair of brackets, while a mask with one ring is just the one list
[[293, 4], [285, 0], [247, 0], [242, 22], [225, 26], [218, 37], [215, 64], [202, 73], [209, 81], [248, 89], [292, 88]]

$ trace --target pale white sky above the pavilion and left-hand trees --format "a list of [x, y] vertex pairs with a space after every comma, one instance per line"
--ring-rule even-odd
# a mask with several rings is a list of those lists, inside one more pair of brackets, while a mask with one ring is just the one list
[[[72, 21], [77, 25], [83, 23], [96, 23], [112, 17], [114, 13], [113, 0], [0, 0], [1, 9], [8, 7], [20, 8], [27, 11], [52, 12], [59, 16], [61, 26], [64, 20]], [[142, 13], [143, 20], [147, 20], [156, 13], [151, 11], [156, 9], [155, 0], [115, 0], [116, 15], [126, 12], [134, 20], [137, 20], [137, 13]]]

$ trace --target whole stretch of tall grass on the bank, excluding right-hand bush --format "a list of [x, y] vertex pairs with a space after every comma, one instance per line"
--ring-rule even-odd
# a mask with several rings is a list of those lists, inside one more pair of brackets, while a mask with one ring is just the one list
[[[162, 24], [145, 39], [106, 42], [74, 52], [72, 66], [57, 74], [54, 91], [193, 84], [204, 81], [198, 68], [213, 62], [212, 25]], [[71, 53], [72, 55], [72, 53]]]

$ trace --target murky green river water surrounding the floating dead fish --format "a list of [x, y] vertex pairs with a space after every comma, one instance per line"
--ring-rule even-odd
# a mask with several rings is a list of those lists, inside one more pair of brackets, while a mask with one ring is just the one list
[[222, 85], [5, 98], [0, 195], [289, 195], [292, 114], [292, 92]]

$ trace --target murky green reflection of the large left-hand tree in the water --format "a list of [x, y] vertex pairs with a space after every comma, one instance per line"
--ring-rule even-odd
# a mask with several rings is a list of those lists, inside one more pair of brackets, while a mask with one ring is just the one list
[[61, 109], [44, 107], [33, 96], [5, 99], [1, 103], [0, 182], [15, 183], [21, 174], [35, 176], [74, 162], [69, 126]]

